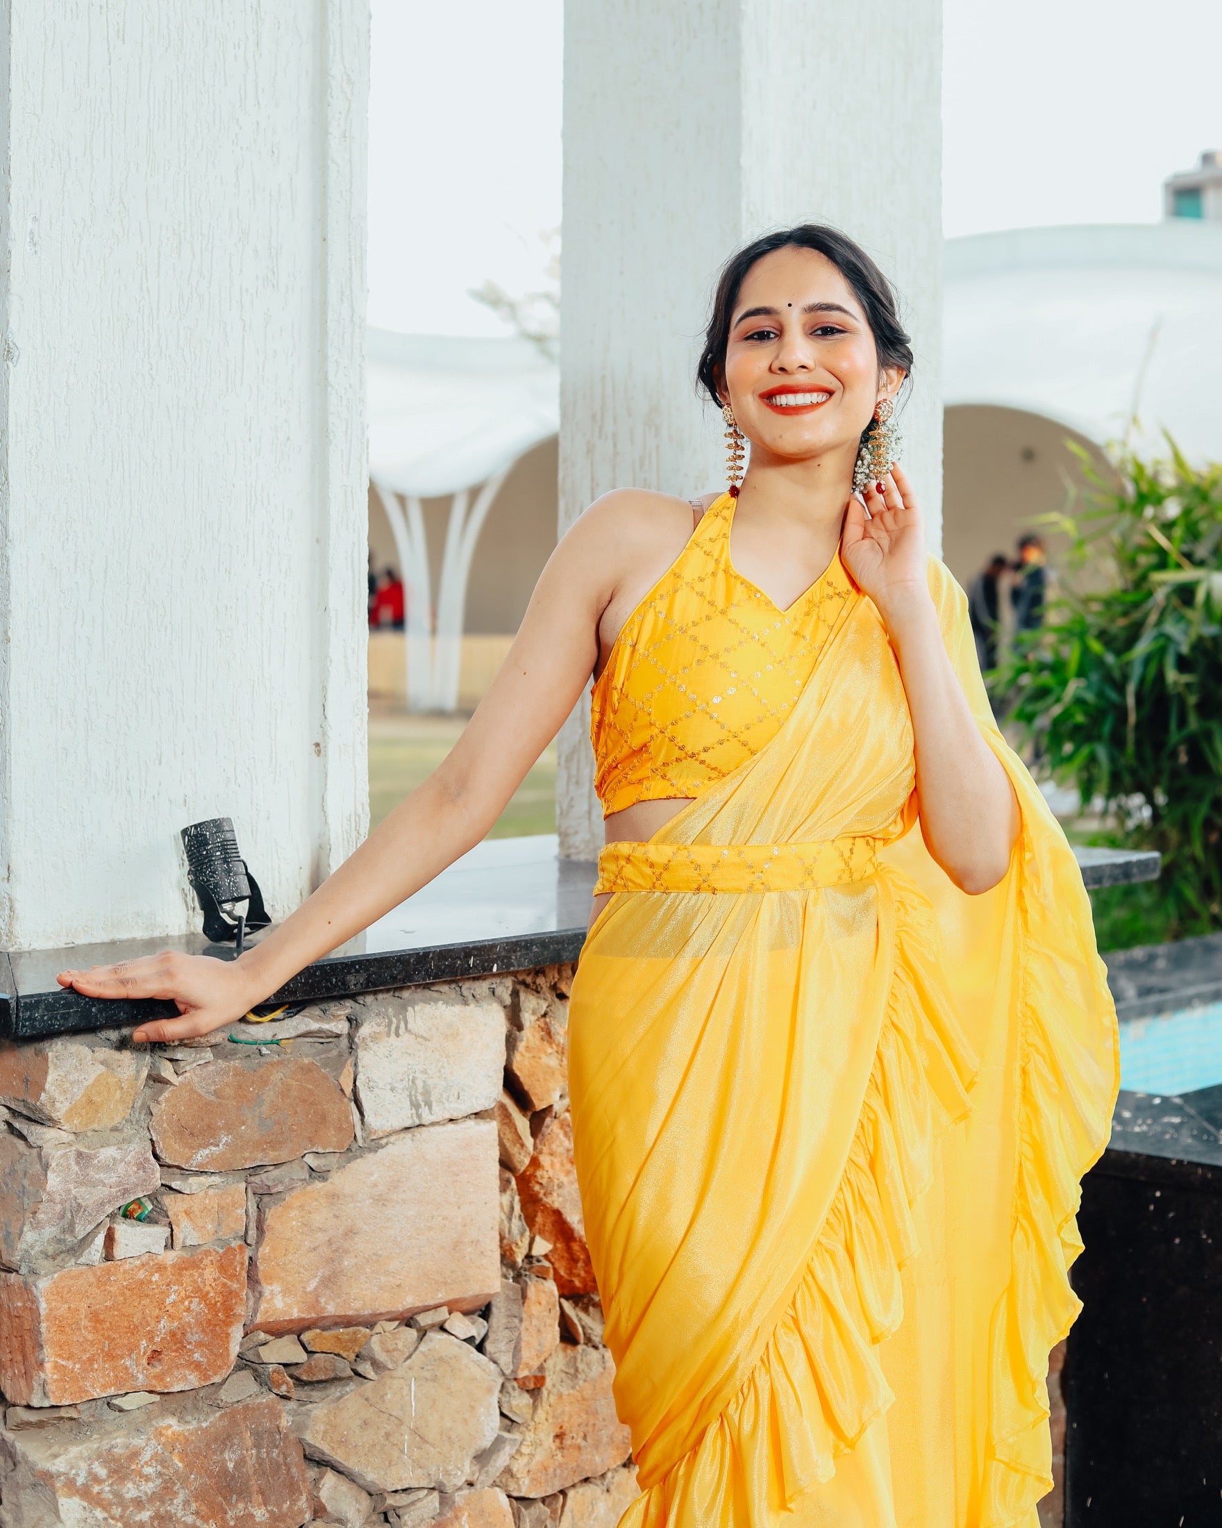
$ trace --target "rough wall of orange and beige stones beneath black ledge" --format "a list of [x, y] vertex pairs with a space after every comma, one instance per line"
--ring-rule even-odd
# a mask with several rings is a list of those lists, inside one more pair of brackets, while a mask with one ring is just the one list
[[0, 1050], [0, 1525], [613, 1528], [570, 976]]

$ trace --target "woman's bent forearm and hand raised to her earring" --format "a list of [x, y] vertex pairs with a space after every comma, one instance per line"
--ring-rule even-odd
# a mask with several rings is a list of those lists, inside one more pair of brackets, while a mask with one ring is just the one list
[[842, 555], [878, 607], [900, 662], [929, 853], [961, 891], [978, 894], [996, 886], [1010, 866], [1019, 804], [947, 657], [912, 484], [895, 468], [878, 487], [871, 486], [865, 509], [849, 500]]

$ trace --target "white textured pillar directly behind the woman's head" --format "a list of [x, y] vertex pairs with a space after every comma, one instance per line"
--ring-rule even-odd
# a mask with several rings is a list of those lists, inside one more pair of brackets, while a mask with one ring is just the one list
[[[599, 494], [724, 483], [695, 361], [723, 261], [832, 223], [895, 281], [916, 373], [904, 466], [941, 539], [941, 0], [568, 0], [561, 532]], [[561, 853], [602, 822], [588, 701], [561, 735]]]

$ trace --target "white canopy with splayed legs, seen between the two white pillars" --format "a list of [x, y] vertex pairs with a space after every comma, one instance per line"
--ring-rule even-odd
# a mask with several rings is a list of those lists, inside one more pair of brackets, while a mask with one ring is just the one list
[[[559, 428], [559, 373], [525, 339], [371, 329], [367, 390], [370, 481], [406, 588], [408, 704], [452, 711], [475, 544], [509, 469]], [[426, 498], [451, 500], [435, 613]]]

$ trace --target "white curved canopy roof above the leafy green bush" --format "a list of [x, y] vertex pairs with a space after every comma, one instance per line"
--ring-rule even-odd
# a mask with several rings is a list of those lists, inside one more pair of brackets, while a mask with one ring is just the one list
[[1222, 460], [1222, 226], [976, 234], [947, 241], [944, 270], [947, 408], [1023, 410], [1152, 454], [1167, 429]]

